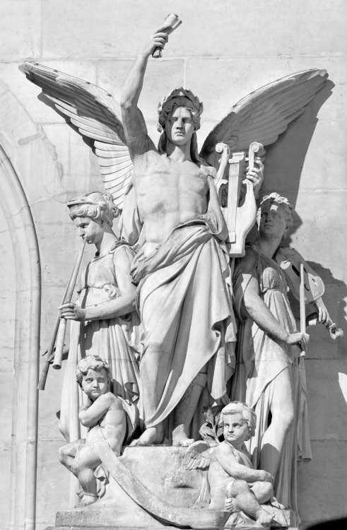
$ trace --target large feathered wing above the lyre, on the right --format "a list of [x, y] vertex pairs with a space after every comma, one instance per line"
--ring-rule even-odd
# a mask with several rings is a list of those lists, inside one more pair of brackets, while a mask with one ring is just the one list
[[325, 70], [304, 70], [254, 90], [213, 127], [202, 146], [201, 158], [218, 167], [218, 142], [227, 143], [233, 152], [248, 150], [253, 141], [263, 146], [274, 143], [288, 124], [304, 112], [327, 77]]

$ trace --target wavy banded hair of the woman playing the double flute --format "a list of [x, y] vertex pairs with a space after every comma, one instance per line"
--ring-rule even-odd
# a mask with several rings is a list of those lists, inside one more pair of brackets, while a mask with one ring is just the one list
[[67, 206], [70, 210], [70, 218], [88, 217], [92, 220], [103, 220], [112, 228], [113, 219], [118, 216], [119, 209], [113, 202], [110, 193], [91, 192], [82, 197], [70, 201]]

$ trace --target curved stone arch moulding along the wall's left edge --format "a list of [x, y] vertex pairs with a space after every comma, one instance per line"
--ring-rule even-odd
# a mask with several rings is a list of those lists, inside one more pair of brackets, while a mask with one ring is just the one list
[[16, 270], [10, 528], [35, 530], [41, 268], [30, 208], [35, 197], [30, 169], [40, 165], [37, 153], [45, 158], [45, 170], [51, 164], [53, 172], [57, 168], [42, 129], [1, 81], [0, 117], [0, 205]]

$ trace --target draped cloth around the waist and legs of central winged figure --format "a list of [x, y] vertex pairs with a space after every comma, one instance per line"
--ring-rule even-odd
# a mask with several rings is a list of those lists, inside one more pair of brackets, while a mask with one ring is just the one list
[[143, 257], [134, 189], [125, 201], [121, 236], [139, 249], [131, 273], [139, 285], [143, 326], [140, 377], [148, 355], [158, 352], [165, 377], [155, 408], [146, 403], [144, 391], [145, 385], [155, 381], [141, 377], [140, 413], [146, 428], [167, 418], [205, 365], [208, 404], [228, 402], [227, 382], [235, 366], [235, 320], [228, 252], [218, 237], [224, 223], [219, 208], [208, 208], [206, 215], [177, 226], [162, 245]]

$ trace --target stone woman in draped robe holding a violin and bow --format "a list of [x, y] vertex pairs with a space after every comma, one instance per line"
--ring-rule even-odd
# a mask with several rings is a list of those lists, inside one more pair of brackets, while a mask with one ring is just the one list
[[[233, 399], [257, 413], [249, 442], [253, 464], [274, 476], [276, 499], [297, 511], [297, 460], [311, 458], [304, 359], [309, 336], [296, 329], [276, 252], [292, 224], [293, 206], [272, 193], [261, 201], [259, 237], [235, 262], [237, 365]], [[327, 315], [319, 312], [320, 321]], [[300, 347], [298, 347], [300, 346]], [[301, 349], [300, 349], [301, 348]]]

